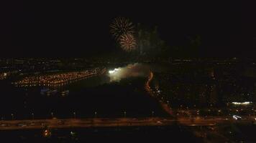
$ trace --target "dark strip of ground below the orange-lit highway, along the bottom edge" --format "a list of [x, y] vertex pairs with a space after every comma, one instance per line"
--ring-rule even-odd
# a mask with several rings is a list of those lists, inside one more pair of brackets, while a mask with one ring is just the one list
[[[254, 142], [255, 124], [216, 127], [145, 126], [0, 131], [4, 142]], [[47, 135], [45, 135], [47, 130]]]

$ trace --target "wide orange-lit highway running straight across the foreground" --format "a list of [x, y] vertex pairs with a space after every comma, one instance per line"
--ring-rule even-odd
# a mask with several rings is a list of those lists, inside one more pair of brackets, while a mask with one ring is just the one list
[[208, 117], [208, 118], [91, 118], [91, 119], [34, 119], [34, 120], [9, 120], [0, 121], [0, 130], [12, 129], [43, 129], [70, 128], [70, 127], [141, 127], [141, 126], [170, 126], [179, 124], [182, 126], [214, 126], [222, 123], [240, 122], [252, 124], [255, 117], [242, 117], [242, 120], [234, 120], [232, 117]]

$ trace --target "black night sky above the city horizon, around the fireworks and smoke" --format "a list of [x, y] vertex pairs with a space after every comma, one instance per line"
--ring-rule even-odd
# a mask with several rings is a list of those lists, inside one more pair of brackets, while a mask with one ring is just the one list
[[116, 50], [109, 24], [158, 26], [168, 46], [201, 36], [201, 55], [254, 56], [255, 4], [240, 2], [14, 1], [1, 9], [1, 56], [89, 56]]

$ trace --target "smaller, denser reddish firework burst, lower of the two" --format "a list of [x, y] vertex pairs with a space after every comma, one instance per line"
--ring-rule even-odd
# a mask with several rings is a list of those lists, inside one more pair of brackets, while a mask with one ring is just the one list
[[122, 34], [120, 36], [120, 45], [124, 51], [132, 51], [136, 48], [136, 40], [132, 34]]

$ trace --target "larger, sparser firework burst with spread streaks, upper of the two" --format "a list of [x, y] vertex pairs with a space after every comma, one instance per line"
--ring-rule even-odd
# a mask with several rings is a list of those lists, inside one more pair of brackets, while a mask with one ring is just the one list
[[119, 40], [122, 34], [134, 34], [134, 25], [129, 19], [124, 17], [117, 17], [110, 24], [110, 32], [115, 39]]

